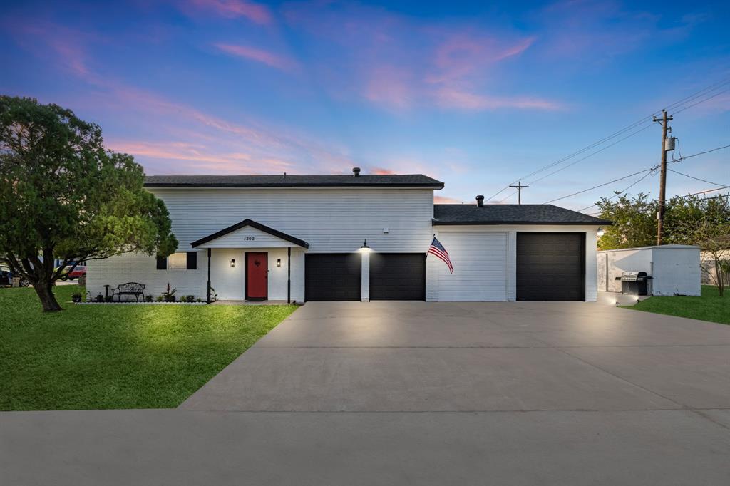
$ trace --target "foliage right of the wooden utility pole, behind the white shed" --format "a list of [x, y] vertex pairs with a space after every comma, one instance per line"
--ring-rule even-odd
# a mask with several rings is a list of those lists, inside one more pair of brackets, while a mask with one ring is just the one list
[[712, 256], [711, 261], [701, 261], [700, 266], [717, 285], [721, 297], [730, 266], [729, 198], [673, 198], [668, 206], [672, 216], [667, 226], [667, 242], [696, 244]]

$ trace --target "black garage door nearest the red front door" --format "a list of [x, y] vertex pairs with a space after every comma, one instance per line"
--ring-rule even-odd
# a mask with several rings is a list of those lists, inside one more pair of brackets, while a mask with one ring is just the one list
[[310, 253], [304, 257], [304, 300], [359, 301], [359, 253]]

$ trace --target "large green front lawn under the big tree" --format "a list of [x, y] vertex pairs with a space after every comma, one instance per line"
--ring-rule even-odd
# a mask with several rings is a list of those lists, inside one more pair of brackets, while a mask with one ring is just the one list
[[0, 288], [0, 410], [182, 403], [296, 306], [75, 305], [43, 314], [32, 288]]

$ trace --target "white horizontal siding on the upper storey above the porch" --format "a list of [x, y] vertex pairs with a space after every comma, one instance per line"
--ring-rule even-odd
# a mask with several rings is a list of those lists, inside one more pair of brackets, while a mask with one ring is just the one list
[[[303, 239], [310, 252], [425, 252], [432, 189], [162, 189], [180, 250], [247, 218]], [[388, 228], [388, 233], [383, 233]], [[235, 236], [231, 236], [235, 239]], [[258, 246], [258, 245], [257, 245]], [[279, 246], [279, 245], [277, 245]]]

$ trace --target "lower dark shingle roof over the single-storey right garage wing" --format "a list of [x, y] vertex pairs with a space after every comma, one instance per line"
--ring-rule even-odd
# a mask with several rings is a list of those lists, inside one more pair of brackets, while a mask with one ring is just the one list
[[610, 221], [553, 204], [434, 204], [434, 225], [610, 225]]

